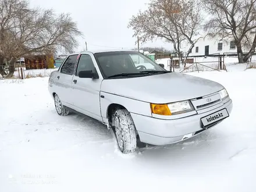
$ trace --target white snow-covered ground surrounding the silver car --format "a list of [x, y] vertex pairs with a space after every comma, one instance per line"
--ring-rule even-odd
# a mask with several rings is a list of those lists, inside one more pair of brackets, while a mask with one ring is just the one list
[[230, 118], [129, 155], [101, 123], [58, 116], [48, 77], [0, 80], [0, 191], [255, 191], [256, 70], [242, 67], [189, 73], [227, 88]]

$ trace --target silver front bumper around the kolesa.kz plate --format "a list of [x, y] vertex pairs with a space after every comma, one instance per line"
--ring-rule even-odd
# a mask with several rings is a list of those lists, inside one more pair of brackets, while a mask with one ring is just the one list
[[[131, 113], [131, 116], [141, 142], [152, 145], [166, 145], [183, 141], [201, 133], [205, 129], [201, 128], [200, 119], [224, 108], [227, 109], [229, 114], [231, 113], [233, 108], [232, 99], [219, 108], [186, 118], [164, 120], [135, 113]], [[215, 125], [218, 123], [215, 123]]]

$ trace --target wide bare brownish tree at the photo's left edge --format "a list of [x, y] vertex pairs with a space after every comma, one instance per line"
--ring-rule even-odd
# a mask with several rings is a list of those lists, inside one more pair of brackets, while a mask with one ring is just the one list
[[55, 15], [52, 9], [31, 9], [26, 0], [0, 0], [0, 42], [2, 58], [14, 72], [14, 63], [24, 55], [72, 52], [82, 33], [69, 13]]

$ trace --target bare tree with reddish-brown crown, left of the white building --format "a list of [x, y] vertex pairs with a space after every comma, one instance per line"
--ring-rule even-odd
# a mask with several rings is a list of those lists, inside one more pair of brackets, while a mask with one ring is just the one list
[[[182, 59], [181, 44], [190, 44], [190, 50], [197, 42], [201, 29], [201, 6], [191, 0], [151, 0], [148, 9], [131, 17], [128, 27], [134, 30], [134, 37], [142, 42], [161, 38], [173, 44]], [[186, 61], [186, 58], [184, 59]]]

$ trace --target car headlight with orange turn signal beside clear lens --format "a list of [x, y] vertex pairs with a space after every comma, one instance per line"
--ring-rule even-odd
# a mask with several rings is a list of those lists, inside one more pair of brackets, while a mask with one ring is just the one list
[[150, 104], [151, 112], [157, 115], [177, 115], [194, 111], [190, 101], [173, 102], [170, 104]]

